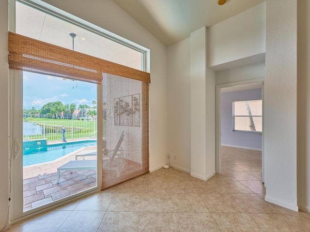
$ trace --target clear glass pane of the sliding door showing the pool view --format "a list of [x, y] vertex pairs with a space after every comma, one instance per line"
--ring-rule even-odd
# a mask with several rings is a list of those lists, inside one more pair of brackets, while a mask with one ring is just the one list
[[23, 73], [23, 211], [97, 186], [96, 85]]

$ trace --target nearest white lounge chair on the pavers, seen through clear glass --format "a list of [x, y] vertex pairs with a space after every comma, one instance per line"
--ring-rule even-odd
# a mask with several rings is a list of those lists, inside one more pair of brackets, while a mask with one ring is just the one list
[[[57, 183], [59, 183], [60, 175], [65, 171], [73, 170], [97, 170], [97, 160], [71, 160], [61, 167], [57, 168]], [[62, 173], [60, 173], [63, 171]]]

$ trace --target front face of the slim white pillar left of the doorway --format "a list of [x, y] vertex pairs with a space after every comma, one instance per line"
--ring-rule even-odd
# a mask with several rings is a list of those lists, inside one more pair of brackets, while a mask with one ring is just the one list
[[201, 179], [206, 178], [206, 30], [190, 34], [191, 175]]

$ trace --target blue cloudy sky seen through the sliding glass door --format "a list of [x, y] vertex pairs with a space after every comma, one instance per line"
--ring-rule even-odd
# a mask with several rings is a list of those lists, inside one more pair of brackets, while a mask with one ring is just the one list
[[23, 109], [40, 110], [48, 102], [87, 104], [97, 102], [97, 85], [61, 77], [23, 72]]

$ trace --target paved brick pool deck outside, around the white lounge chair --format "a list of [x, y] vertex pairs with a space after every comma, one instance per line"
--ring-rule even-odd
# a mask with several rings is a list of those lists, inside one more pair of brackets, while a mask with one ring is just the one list
[[[81, 151], [93, 150], [95, 146], [80, 148], [62, 158], [47, 163], [25, 166], [24, 179], [24, 211], [56, 201], [71, 194], [95, 187], [97, 174], [94, 170], [76, 170], [65, 172], [57, 183], [57, 168], [70, 160], [76, 160]], [[97, 159], [87, 156], [86, 160]]]

